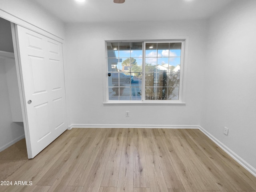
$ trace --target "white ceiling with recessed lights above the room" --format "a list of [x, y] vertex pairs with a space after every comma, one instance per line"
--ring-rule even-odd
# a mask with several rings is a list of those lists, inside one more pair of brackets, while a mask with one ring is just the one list
[[234, 0], [31, 0], [63, 22], [129, 22], [205, 19]]

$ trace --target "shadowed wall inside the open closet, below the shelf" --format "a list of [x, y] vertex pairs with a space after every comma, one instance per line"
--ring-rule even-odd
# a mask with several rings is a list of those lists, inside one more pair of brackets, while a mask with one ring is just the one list
[[0, 58], [0, 151], [24, 138], [23, 123], [12, 122], [5, 64]]

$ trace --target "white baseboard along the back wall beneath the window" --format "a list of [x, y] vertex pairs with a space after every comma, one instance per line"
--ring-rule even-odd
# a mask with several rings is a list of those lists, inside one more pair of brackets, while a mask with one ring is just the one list
[[71, 124], [72, 128], [173, 128], [173, 129], [198, 129], [198, 125], [148, 125], [148, 124]]

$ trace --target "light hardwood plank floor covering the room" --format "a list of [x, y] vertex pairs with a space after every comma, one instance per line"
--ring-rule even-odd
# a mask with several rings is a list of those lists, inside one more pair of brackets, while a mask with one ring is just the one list
[[73, 128], [4, 192], [256, 192], [256, 178], [200, 130]]

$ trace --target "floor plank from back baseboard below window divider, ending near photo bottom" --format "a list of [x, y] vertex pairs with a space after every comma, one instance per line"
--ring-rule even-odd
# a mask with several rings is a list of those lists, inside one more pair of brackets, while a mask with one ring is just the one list
[[142, 129], [134, 129], [133, 142], [133, 186], [135, 188], [150, 188]]

